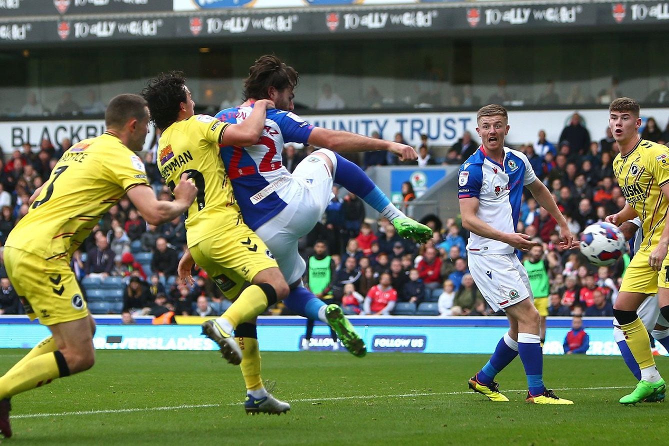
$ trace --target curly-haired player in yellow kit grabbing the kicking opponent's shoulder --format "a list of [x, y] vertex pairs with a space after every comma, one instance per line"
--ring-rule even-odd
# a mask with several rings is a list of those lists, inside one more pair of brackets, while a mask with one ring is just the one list
[[181, 72], [150, 80], [142, 95], [149, 103], [151, 118], [162, 130], [157, 158], [165, 183], [178, 186], [185, 174], [198, 188], [185, 222], [188, 250], [181, 265], [197, 263], [233, 300], [221, 317], [203, 324], [203, 334], [219, 345], [228, 362], [241, 364], [248, 389], [247, 412], [285, 413], [290, 405], [272, 397], [262, 384], [258, 342], [251, 340], [254, 326], [248, 322], [283, 300], [288, 284], [265, 243], [244, 223], [219, 154], [221, 145], [255, 144], [264, 127], [266, 108], [274, 104], [257, 101], [242, 124], [195, 115], [195, 103]]

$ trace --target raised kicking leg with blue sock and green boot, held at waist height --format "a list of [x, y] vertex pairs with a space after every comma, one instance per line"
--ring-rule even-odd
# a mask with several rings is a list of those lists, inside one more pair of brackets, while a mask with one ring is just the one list
[[328, 152], [330, 159], [332, 159], [330, 154], [334, 154], [337, 161], [336, 163], [333, 161], [334, 183], [342, 185], [348, 191], [363, 199], [365, 203], [379, 211], [383, 217], [389, 219], [395, 229], [397, 229], [400, 237], [411, 239], [417, 243], [425, 243], [432, 238], [432, 229], [407, 217], [402, 211], [397, 209], [357, 164], [353, 164], [353, 162], [330, 150], [320, 150]]

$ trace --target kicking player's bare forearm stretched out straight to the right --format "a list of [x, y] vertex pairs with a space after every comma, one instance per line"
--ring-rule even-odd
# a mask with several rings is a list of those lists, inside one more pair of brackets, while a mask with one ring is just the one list
[[360, 134], [314, 127], [309, 135], [309, 144], [316, 147], [327, 147], [335, 152], [368, 152], [387, 150], [399, 156], [400, 160], [415, 160], [418, 154], [413, 147], [399, 142], [369, 138]]

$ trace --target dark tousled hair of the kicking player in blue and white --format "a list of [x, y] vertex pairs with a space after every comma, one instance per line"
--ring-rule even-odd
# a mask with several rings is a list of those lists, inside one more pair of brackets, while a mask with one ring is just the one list
[[244, 100], [269, 99], [270, 87], [277, 90], [295, 88], [300, 75], [276, 55], [263, 55], [249, 68], [244, 80]]

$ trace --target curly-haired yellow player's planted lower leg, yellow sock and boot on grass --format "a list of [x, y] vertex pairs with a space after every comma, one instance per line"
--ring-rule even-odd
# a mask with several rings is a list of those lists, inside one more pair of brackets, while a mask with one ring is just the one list
[[246, 413], [281, 415], [290, 411], [290, 405], [273, 397], [263, 385], [262, 378], [260, 378], [260, 348], [258, 348], [256, 324], [244, 322], [237, 326], [235, 342], [242, 352], [240, 367], [246, 383], [246, 401], [244, 402]]

